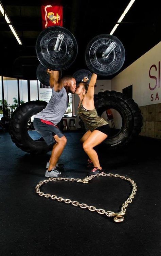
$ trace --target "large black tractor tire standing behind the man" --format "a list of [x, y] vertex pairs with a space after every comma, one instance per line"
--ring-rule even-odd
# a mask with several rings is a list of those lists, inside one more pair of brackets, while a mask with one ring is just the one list
[[[31, 154], [43, 154], [52, 150], [53, 144], [48, 146], [43, 138], [34, 140], [29, 135], [30, 118], [42, 111], [47, 105], [46, 101], [30, 101], [20, 105], [12, 114], [10, 123], [10, 135], [12, 141], [21, 150]], [[63, 129], [62, 120], [58, 124]]]

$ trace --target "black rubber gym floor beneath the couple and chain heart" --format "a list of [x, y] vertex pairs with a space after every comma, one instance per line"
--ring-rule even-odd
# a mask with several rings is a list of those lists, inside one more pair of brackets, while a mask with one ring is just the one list
[[[65, 133], [68, 143], [60, 162], [68, 177], [83, 178], [87, 160], [81, 133]], [[138, 137], [121, 152], [99, 146], [107, 173], [133, 179], [138, 191], [128, 205], [124, 222], [74, 207], [35, 193], [50, 154], [32, 156], [16, 147], [8, 133], [0, 134], [0, 255], [3, 256], [159, 256], [161, 142]], [[97, 177], [89, 184], [50, 182], [44, 193], [118, 212], [131, 193], [130, 183]]]

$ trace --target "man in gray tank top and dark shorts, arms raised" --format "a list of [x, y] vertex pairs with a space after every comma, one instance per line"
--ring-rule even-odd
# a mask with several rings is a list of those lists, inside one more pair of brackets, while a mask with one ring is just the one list
[[63, 165], [60, 165], [58, 160], [66, 146], [67, 139], [56, 125], [68, 108], [68, 93], [75, 93], [76, 81], [72, 76], [60, 78], [59, 71], [48, 69], [47, 73], [50, 75], [52, 96], [46, 108], [35, 116], [34, 127], [48, 145], [56, 142], [50, 161], [47, 163], [48, 170], [46, 170], [45, 176], [62, 177], [59, 167]]

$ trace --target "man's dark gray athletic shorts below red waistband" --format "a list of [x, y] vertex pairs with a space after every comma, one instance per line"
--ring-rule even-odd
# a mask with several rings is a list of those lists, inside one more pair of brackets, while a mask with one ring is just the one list
[[42, 123], [40, 118], [34, 118], [33, 122], [35, 130], [41, 134], [44, 141], [50, 145], [55, 142], [53, 136], [57, 135], [59, 138], [63, 137], [64, 134], [54, 125], [47, 125]]

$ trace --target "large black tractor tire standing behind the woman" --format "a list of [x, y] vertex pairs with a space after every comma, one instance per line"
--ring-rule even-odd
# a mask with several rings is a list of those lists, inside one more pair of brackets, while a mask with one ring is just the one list
[[[94, 105], [99, 116], [106, 110], [114, 109], [122, 118], [121, 128], [111, 128], [109, 137], [102, 143], [107, 150], [117, 150], [126, 146], [141, 132], [142, 115], [138, 104], [133, 99], [117, 91], [105, 91], [94, 95]], [[82, 120], [79, 125], [84, 128], [84, 132], [87, 131]]]

